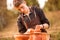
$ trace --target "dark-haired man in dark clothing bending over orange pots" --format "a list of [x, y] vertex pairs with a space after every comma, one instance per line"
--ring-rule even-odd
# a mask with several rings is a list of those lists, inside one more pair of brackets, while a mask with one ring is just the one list
[[14, 0], [13, 4], [21, 12], [17, 21], [20, 33], [25, 33], [30, 28], [46, 32], [45, 29], [49, 28], [50, 24], [40, 8], [29, 8], [24, 0]]

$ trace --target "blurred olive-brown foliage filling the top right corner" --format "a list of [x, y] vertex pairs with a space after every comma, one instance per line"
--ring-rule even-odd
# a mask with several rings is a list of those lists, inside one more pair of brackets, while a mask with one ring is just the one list
[[60, 0], [48, 0], [45, 5], [45, 10], [55, 11], [60, 10]]

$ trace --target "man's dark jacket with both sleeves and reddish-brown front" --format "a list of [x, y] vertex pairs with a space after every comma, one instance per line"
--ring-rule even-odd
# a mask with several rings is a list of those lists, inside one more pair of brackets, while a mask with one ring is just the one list
[[[31, 7], [30, 10], [31, 10], [31, 13], [29, 14], [30, 19], [26, 15], [25, 16], [22, 14], [19, 15], [17, 23], [18, 23], [18, 29], [19, 29], [20, 33], [24, 33], [27, 30], [23, 21], [26, 22], [28, 28], [35, 28], [34, 27], [35, 25], [37, 25], [37, 24], [40, 25], [40, 24], [44, 24], [44, 23], [47, 23], [48, 25], [50, 25], [48, 19], [44, 15], [44, 12], [42, 11], [42, 9], [40, 9], [38, 7]], [[34, 11], [35, 11], [35, 13], [34, 13]], [[35, 18], [35, 14], [37, 16], [36, 18]], [[23, 17], [23, 19], [21, 17]]]

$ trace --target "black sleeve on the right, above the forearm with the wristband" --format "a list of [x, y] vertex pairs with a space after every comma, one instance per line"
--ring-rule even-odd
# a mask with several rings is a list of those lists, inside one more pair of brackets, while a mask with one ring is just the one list
[[44, 12], [42, 9], [35, 7], [35, 11], [37, 12], [38, 16], [40, 17], [41, 24], [47, 23], [50, 26], [50, 23], [46, 16], [44, 15]]

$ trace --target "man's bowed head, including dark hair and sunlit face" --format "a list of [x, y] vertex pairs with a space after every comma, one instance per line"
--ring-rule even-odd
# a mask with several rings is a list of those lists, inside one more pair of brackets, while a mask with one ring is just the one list
[[14, 0], [13, 4], [14, 4], [14, 7], [22, 13], [27, 13], [29, 10], [24, 0]]

